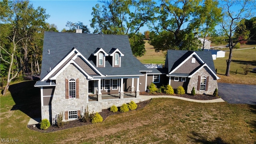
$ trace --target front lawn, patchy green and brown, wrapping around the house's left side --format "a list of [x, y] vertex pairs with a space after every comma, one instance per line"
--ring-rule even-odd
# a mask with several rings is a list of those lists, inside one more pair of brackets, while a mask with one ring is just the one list
[[[20, 143], [255, 143], [256, 107], [247, 104], [195, 103], [172, 98], [152, 99], [150, 104], [109, 116], [102, 123], [50, 133], [26, 127], [31, 112], [40, 108], [33, 81], [14, 84], [15, 93], [0, 97], [0, 138]], [[33, 108], [33, 109], [32, 109]], [[1, 142], [2, 143], [2, 142]]]

